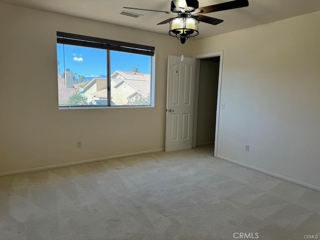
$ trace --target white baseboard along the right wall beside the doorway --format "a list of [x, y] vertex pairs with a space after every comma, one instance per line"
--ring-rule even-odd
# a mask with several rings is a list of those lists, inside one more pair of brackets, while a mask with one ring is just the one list
[[224, 157], [224, 156], [217, 155], [216, 157], [220, 158], [220, 159], [223, 159], [223, 160], [226, 160], [226, 161], [229, 161], [229, 162], [232, 162], [232, 163], [235, 163], [237, 165], [244, 166], [246, 168], [249, 168], [249, 169], [252, 169], [252, 170], [267, 174], [267, 175], [270, 175], [270, 176], [274, 176], [274, 177], [279, 178], [281, 180], [289, 181], [291, 183], [294, 183], [294, 184], [297, 184], [297, 185], [300, 185], [300, 186], [304, 186], [304, 187], [307, 187], [307, 188], [312, 189], [312, 190], [320, 191], [320, 187], [312, 185], [312, 184], [309, 184], [309, 183], [305, 183], [303, 181], [298, 181], [298, 180], [295, 180], [293, 178], [290, 178], [290, 177], [287, 177], [287, 176], [283, 176], [283, 175], [280, 175], [280, 174], [277, 174], [277, 173], [274, 173], [274, 172], [271, 172], [271, 171], [268, 171], [268, 170], [264, 170], [264, 169], [261, 169], [261, 168], [255, 167], [255, 166], [251, 166], [251, 165], [248, 165], [246, 163], [243, 163], [243, 162], [240, 162], [240, 161], [236, 161], [236, 160]]

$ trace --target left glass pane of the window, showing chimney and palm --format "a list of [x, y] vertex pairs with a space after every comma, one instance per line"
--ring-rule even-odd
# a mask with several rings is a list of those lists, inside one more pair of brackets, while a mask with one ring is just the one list
[[107, 105], [106, 50], [57, 43], [59, 106]]

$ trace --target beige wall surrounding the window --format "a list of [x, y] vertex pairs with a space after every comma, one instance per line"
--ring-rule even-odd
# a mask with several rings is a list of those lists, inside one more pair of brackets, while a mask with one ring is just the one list
[[[155, 46], [155, 107], [59, 110], [56, 31]], [[164, 148], [175, 38], [3, 3], [0, 34], [0, 173]]]

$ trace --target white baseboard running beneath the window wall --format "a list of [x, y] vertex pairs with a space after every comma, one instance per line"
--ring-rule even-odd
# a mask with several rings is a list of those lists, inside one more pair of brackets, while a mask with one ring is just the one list
[[73, 162], [61, 163], [61, 164], [56, 164], [56, 165], [40, 166], [40, 167], [34, 167], [34, 168], [28, 168], [28, 169], [22, 169], [22, 170], [16, 170], [16, 171], [1, 172], [0, 177], [30, 173], [30, 172], [34, 172], [34, 171], [49, 170], [49, 169], [53, 169], [53, 168], [60, 168], [60, 167], [66, 167], [66, 166], [74, 166], [74, 165], [110, 160], [110, 159], [127, 157], [127, 156], [136, 156], [136, 155], [142, 155], [142, 154], [154, 153], [154, 152], [160, 152], [160, 151], [164, 151], [164, 148], [147, 150], [147, 151], [131, 152], [131, 153], [125, 153], [125, 154], [120, 154], [120, 155], [114, 155], [114, 156], [99, 157], [99, 158], [93, 158], [93, 159], [82, 160], [82, 161], [73, 161]]

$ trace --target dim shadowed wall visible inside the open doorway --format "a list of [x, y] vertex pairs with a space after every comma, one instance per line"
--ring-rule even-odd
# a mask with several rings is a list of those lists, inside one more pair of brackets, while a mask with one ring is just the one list
[[218, 75], [218, 62], [200, 60], [196, 145], [214, 142]]

